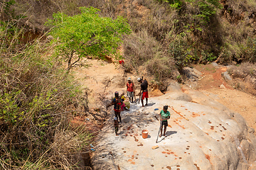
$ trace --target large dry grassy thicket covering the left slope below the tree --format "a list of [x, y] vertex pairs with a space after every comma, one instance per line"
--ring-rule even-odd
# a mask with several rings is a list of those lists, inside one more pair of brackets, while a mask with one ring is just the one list
[[[22, 31], [1, 27], [1, 169], [69, 169], [70, 156], [90, 134], [69, 125], [69, 116], [87, 106], [80, 87], [51, 57], [54, 45], [21, 46]], [[14, 43], [17, 42], [17, 43]], [[80, 108], [74, 108], [74, 104]]]

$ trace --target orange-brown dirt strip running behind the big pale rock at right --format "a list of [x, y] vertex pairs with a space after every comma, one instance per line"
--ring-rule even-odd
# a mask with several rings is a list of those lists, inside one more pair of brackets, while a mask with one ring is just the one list
[[[196, 65], [198, 71], [203, 74], [203, 78], [198, 81], [198, 91], [205, 94], [217, 94], [218, 102], [231, 110], [240, 113], [245, 118], [247, 125], [256, 128], [256, 98], [250, 94], [238, 91], [230, 86], [221, 73], [225, 72], [225, 67], [216, 69], [211, 64]], [[221, 89], [220, 85], [223, 84], [225, 89]]]

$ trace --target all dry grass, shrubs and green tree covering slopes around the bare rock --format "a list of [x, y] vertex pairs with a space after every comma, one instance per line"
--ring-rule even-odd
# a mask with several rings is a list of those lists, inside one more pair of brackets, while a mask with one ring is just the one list
[[[83, 111], [87, 101], [72, 75], [62, 69], [61, 57], [69, 60], [70, 69], [80, 57], [117, 54], [123, 41], [124, 71], [143, 68], [158, 87], [166, 79], [181, 82], [177, 70], [190, 64], [256, 62], [256, 8], [251, 0], [221, 4], [217, 0], [0, 0], [0, 4], [2, 169], [72, 169], [75, 162], [69, 154], [79, 152], [90, 140], [86, 131], [68, 125], [68, 115]], [[80, 6], [86, 6], [82, 13]], [[50, 17], [55, 26], [50, 45], [42, 40], [21, 44], [26, 31], [43, 34], [50, 29], [43, 25]], [[85, 18], [95, 26], [82, 25]], [[124, 34], [128, 35], [119, 36]], [[55, 60], [54, 50], [62, 60]], [[73, 57], [77, 58], [72, 62]], [[255, 76], [252, 67], [244, 71]], [[228, 72], [240, 77], [232, 69]], [[237, 89], [241, 86], [235, 84]]]

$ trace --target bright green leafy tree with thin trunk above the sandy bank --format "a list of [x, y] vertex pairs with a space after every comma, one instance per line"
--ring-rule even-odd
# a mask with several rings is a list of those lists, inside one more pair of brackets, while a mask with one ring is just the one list
[[[121, 57], [118, 47], [122, 35], [131, 33], [127, 21], [120, 16], [116, 19], [102, 17], [100, 10], [93, 7], [80, 7], [80, 10], [75, 16], [54, 13], [53, 19], [46, 23], [53, 26], [50, 35], [53, 41], [58, 41], [56, 52], [68, 61], [68, 70], [82, 57]], [[74, 56], [78, 58], [73, 61]]]

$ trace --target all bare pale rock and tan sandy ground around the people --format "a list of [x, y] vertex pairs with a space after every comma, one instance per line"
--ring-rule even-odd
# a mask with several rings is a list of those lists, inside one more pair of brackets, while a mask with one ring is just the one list
[[[90, 89], [90, 109], [100, 108], [99, 118], [110, 115], [97, 135], [94, 169], [255, 169], [256, 100], [225, 81], [225, 67], [198, 65], [202, 75], [191, 88], [170, 81], [166, 94], [150, 91], [149, 106], [132, 103], [130, 111], [122, 112], [122, 127], [115, 136], [113, 106], [108, 104], [114, 91], [126, 94], [127, 77], [139, 92], [139, 75], [124, 74], [119, 64], [88, 63], [92, 66], [87, 69], [75, 69], [75, 77]], [[156, 143], [164, 105], [170, 106], [171, 119], [167, 137]], [[146, 139], [142, 130], [149, 130]]]

